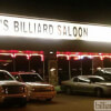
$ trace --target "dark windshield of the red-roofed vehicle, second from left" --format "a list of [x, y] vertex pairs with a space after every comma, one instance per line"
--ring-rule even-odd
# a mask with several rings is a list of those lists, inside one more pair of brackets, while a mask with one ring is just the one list
[[41, 82], [41, 81], [43, 81], [38, 74], [21, 74], [21, 79], [24, 82]]

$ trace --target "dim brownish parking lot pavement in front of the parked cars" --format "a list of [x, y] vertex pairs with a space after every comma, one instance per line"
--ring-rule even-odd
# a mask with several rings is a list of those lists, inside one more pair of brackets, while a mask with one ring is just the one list
[[0, 111], [94, 111], [94, 100], [109, 100], [111, 98], [95, 98], [89, 95], [57, 94], [51, 102], [31, 101], [26, 108], [2, 108]]

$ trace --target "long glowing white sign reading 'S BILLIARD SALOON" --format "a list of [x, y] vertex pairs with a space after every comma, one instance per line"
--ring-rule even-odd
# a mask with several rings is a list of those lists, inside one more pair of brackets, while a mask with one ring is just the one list
[[111, 27], [0, 16], [0, 36], [111, 42]]

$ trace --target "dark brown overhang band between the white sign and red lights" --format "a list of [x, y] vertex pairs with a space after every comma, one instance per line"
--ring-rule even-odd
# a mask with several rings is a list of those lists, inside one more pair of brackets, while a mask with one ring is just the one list
[[111, 53], [111, 43], [80, 41], [80, 40], [46, 40], [46, 39], [23, 39], [23, 38], [8, 37], [8, 38], [0, 38], [0, 49]]

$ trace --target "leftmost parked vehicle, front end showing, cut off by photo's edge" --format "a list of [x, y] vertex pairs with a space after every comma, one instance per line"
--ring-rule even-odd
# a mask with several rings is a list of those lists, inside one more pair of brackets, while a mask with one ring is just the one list
[[27, 104], [27, 85], [18, 82], [8, 71], [0, 70], [0, 103]]

